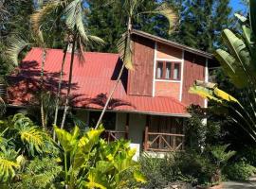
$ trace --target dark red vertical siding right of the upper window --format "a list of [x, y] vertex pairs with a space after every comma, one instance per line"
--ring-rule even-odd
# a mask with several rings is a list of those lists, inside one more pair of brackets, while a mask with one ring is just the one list
[[189, 52], [184, 55], [182, 102], [186, 105], [204, 106], [204, 99], [196, 94], [189, 94], [194, 80], [205, 80], [206, 59]]

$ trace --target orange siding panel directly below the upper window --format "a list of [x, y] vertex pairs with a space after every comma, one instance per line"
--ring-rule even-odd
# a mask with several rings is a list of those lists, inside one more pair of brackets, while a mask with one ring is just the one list
[[180, 83], [155, 81], [155, 96], [172, 96], [179, 100]]

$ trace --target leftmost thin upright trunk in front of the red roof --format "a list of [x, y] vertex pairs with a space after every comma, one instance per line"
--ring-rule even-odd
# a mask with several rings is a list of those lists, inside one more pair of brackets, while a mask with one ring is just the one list
[[44, 110], [44, 73], [45, 73], [45, 62], [46, 62], [46, 48], [43, 48], [43, 56], [42, 56], [42, 66], [41, 66], [41, 83], [40, 83], [40, 90], [41, 90], [41, 103], [40, 103], [40, 111], [41, 111], [41, 122], [43, 129], [46, 129], [46, 119], [45, 119], [45, 110]]

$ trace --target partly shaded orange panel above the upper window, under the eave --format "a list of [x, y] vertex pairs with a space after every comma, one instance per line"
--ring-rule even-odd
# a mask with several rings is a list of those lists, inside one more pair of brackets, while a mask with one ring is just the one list
[[156, 59], [181, 60], [182, 50], [166, 44], [157, 43]]

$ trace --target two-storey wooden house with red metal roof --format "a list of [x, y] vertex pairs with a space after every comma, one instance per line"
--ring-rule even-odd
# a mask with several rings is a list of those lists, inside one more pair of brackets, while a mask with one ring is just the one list
[[[188, 91], [195, 79], [208, 81], [212, 55], [138, 30], [132, 31], [132, 39], [134, 70], [123, 74], [110, 102], [103, 119], [105, 137], [128, 138], [146, 151], [182, 150], [184, 120], [190, 117], [186, 108], [192, 103], [207, 107], [207, 101]], [[57, 91], [63, 54], [47, 49], [48, 91]], [[38, 91], [41, 58], [42, 49], [32, 48], [10, 78], [9, 106], [26, 106]], [[69, 62], [67, 54], [63, 88]], [[120, 67], [118, 54], [85, 52], [83, 63], [75, 57], [72, 107], [86, 126], [95, 126]]]

